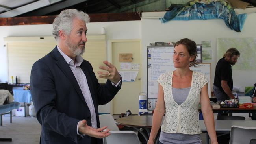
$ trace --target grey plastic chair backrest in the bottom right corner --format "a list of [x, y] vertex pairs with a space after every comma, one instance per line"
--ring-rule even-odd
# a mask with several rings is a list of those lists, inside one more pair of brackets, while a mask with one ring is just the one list
[[256, 139], [256, 127], [231, 127], [229, 144], [249, 144], [251, 139]]

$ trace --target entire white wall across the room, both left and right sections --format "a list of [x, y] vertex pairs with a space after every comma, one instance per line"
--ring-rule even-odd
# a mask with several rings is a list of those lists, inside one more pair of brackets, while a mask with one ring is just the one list
[[[160, 12], [154, 12], [160, 13]], [[162, 15], [163, 16], [163, 15]], [[142, 57], [142, 91], [147, 91], [147, 46], [156, 41], [176, 42], [188, 37], [197, 44], [203, 40], [211, 40], [213, 60], [211, 61], [211, 82], [213, 83], [218, 37], [256, 37], [256, 13], [247, 15], [242, 32], [230, 30], [223, 20], [191, 20], [169, 21], [161, 24], [160, 20], [142, 18], [141, 21], [124, 22], [93, 22], [87, 24], [88, 34], [102, 34], [101, 28], [106, 29], [107, 48], [112, 39], [141, 39]], [[4, 37], [50, 36], [52, 25], [0, 26], [0, 82], [8, 81], [6, 48], [3, 46]], [[242, 56], [242, 55], [241, 55]], [[108, 60], [109, 60], [108, 54]], [[244, 90], [245, 86], [256, 83], [256, 70], [233, 70], [234, 85]], [[109, 109], [109, 106], [108, 108]]]

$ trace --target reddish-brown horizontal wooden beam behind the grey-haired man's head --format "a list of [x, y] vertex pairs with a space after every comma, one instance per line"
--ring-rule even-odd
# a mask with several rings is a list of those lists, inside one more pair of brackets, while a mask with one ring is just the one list
[[[141, 20], [140, 14], [132, 13], [95, 13], [89, 14], [90, 22], [114, 22]], [[56, 15], [53, 16], [33, 16], [33, 17], [11, 17], [0, 18], [0, 26], [52, 24]]]

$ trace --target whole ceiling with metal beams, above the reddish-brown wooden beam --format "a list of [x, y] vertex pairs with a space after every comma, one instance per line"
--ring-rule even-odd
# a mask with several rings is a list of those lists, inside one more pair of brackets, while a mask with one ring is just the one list
[[[189, 0], [0, 0], [0, 17], [58, 15], [67, 8], [86, 13], [165, 11], [171, 3]], [[242, 0], [256, 6], [256, 0]]]

